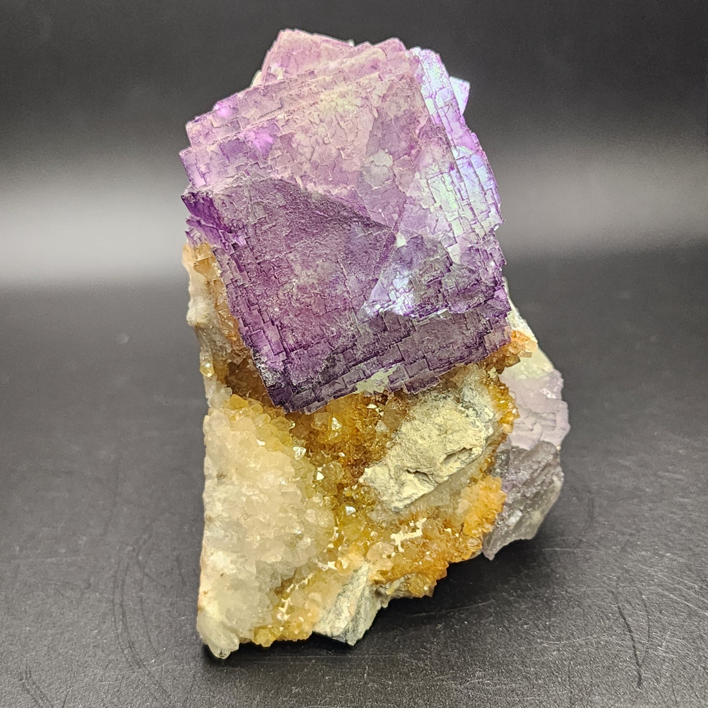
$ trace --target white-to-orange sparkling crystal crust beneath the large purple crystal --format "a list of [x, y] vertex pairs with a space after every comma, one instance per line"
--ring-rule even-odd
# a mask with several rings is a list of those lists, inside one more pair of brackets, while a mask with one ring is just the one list
[[[505, 499], [489, 469], [516, 416], [498, 374], [535, 341], [515, 331], [489, 360], [457, 367], [416, 396], [355, 393], [314, 413], [284, 413], [241, 341], [209, 246], [185, 246], [183, 261], [209, 404], [198, 630], [217, 656], [243, 641], [306, 638], [355, 571], [384, 598], [378, 607], [432, 593], [448, 564], [480, 552]], [[431, 425], [424, 447], [444, 445], [440, 459], [423, 459], [416, 421], [451, 405], [469, 426], [486, 427], [479, 440], [456, 442]], [[411, 456], [416, 467], [401, 469]], [[386, 484], [423, 475], [433, 489], [387, 508], [385, 476], [376, 476], [384, 468], [394, 480]]]

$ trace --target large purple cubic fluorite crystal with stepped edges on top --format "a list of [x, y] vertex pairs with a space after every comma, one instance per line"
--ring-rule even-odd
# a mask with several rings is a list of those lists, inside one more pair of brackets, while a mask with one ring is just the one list
[[312, 411], [379, 372], [417, 392], [508, 341], [468, 93], [399, 40], [285, 31], [249, 89], [188, 124], [188, 238], [212, 247], [276, 404]]

